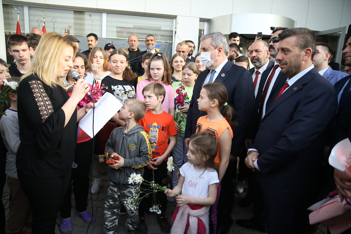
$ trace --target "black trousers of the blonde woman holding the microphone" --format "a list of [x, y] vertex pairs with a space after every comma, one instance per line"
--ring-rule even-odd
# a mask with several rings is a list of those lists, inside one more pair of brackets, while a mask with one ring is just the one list
[[32, 233], [54, 234], [56, 218], [67, 191], [70, 171], [59, 178], [39, 179], [17, 171], [33, 212]]

